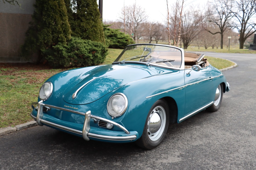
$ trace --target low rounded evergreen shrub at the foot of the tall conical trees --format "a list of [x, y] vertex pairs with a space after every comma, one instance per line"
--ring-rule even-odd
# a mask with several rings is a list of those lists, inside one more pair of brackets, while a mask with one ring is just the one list
[[67, 44], [58, 43], [43, 53], [53, 67], [87, 67], [102, 64], [107, 49], [103, 43], [72, 37]]

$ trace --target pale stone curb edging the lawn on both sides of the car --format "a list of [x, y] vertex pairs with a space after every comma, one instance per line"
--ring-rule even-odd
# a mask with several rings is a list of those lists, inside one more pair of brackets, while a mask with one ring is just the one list
[[[230, 60], [228, 60], [228, 61], [230, 61]], [[230, 62], [232, 62], [232, 61], [230, 61]], [[229, 70], [231, 68], [234, 68], [234, 67], [238, 66], [237, 63], [235, 63], [235, 62], [232, 62], [232, 63], [234, 63], [233, 66], [220, 69], [220, 71]], [[30, 121], [30, 122], [27, 122], [27, 123], [24, 123], [24, 124], [21, 124], [21, 125], [17, 125], [15, 127], [10, 127], [9, 126], [9, 127], [5, 127], [5, 128], [1, 128], [0, 129], [0, 136], [6, 135], [8, 133], [16, 132], [16, 131], [19, 131], [19, 130], [23, 130], [23, 129], [26, 129], [26, 128], [30, 128], [30, 127], [33, 127], [33, 126], [36, 126], [36, 125], [37, 125], [36, 121], [33, 120], [33, 121]]]

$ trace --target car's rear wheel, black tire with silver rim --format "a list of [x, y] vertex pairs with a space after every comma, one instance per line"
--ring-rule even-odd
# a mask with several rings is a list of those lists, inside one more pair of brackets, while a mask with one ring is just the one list
[[214, 103], [210, 107], [208, 107], [206, 110], [209, 112], [216, 112], [220, 108], [220, 105], [222, 102], [222, 96], [223, 96], [223, 85], [219, 84], [219, 86], [216, 89]]

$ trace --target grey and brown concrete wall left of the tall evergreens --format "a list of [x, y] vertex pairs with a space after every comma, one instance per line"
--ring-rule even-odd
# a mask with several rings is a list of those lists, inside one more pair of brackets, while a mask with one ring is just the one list
[[21, 7], [0, 0], [0, 63], [23, 63], [20, 46], [24, 43], [35, 0], [19, 0]]

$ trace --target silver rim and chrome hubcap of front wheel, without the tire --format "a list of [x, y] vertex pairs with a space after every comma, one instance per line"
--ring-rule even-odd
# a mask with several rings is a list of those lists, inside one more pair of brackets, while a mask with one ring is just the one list
[[166, 114], [164, 108], [162, 106], [155, 107], [147, 122], [147, 133], [150, 140], [156, 141], [162, 136], [165, 122]]

